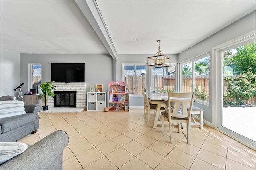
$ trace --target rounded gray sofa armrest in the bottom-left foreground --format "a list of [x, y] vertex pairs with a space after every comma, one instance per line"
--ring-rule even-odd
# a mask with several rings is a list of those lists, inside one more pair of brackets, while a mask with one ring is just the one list
[[68, 145], [68, 142], [69, 138], [65, 131], [55, 131], [28, 147], [22, 154], [2, 164], [1, 170], [62, 170], [63, 149]]

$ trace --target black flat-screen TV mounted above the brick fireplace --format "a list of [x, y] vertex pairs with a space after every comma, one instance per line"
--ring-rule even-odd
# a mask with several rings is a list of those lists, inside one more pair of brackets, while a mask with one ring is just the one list
[[84, 82], [84, 63], [51, 63], [51, 81]]

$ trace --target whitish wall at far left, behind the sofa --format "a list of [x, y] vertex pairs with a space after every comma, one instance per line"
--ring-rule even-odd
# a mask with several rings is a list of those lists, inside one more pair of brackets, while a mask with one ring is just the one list
[[18, 97], [18, 90], [15, 92], [14, 89], [20, 84], [20, 54], [1, 49], [0, 96]]

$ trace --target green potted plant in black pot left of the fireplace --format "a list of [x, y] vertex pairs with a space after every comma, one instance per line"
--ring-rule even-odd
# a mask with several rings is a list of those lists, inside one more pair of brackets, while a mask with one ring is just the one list
[[44, 106], [43, 106], [43, 110], [48, 110], [48, 98], [50, 97], [54, 97], [55, 94], [54, 92], [52, 92], [52, 90], [55, 90], [55, 87], [53, 85], [55, 81], [52, 82], [44, 82], [40, 85], [41, 89], [42, 89], [42, 94], [39, 95], [39, 98], [42, 99], [44, 98]]

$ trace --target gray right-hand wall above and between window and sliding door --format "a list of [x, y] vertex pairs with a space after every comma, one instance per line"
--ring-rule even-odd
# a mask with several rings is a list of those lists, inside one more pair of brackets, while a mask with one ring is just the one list
[[[235, 39], [237, 37], [240, 37], [242, 35], [245, 35], [246, 33], [250, 33], [251, 31], [256, 30], [256, 11], [248, 14], [244, 18], [241, 18], [240, 20], [232, 23], [228, 27], [218, 31], [214, 35], [204, 39], [200, 43], [194, 45], [193, 47], [190, 47], [189, 49], [183, 51], [178, 55], [178, 62], [181, 63], [183, 61], [187, 61], [188, 59], [192, 57], [196, 57], [200, 54], [210, 52], [210, 61], [212, 60], [212, 48], [223, 44], [227, 41], [231, 41], [232, 39]], [[212, 68], [210, 67], [210, 70]], [[200, 107], [204, 109], [204, 119], [206, 121], [212, 122], [212, 91], [215, 90], [211, 86], [213, 84], [212, 82], [212, 76], [213, 74], [210, 74], [210, 103], [209, 106], [194, 103], [194, 106]], [[220, 94], [221, 95], [221, 94]]]

